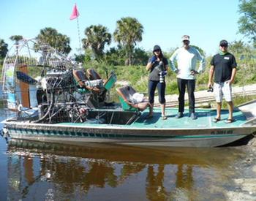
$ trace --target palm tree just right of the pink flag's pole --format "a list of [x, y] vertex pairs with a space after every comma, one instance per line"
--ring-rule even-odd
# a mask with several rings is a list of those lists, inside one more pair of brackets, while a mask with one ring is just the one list
[[95, 58], [102, 58], [105, 44], [110, 45], [111, 34], [108, 29], [102, 25], [91, 25], [84, 31], [86, 38], [82, 39], [83, 48], [91, 48]]

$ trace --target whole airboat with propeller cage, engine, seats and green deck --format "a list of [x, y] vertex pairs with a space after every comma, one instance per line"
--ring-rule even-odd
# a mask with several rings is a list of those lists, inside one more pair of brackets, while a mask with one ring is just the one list
[[116, 88], [119, 102], [109, 101], [117, 77], [102, 77], [36, 39], [23, 39], [4, 59], [2, 90], [8, 139], [86, 145], [107, 143], [139, 146], [217, 147], [246, 144], [256, 132], [256, 101], [234, 111], [235, 122], [212, 122], [215, 110], [198, 109], [197, 120], [167, 120], [159, 109], [146, 118], [148, 99], [132, 86]]

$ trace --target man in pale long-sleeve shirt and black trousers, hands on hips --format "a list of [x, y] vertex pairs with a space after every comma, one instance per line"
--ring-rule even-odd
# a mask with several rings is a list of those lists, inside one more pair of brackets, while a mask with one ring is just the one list
[[[176, 118], [183, 117], [184, 113], [184, 96], [187, 86], [187, 92], [189, 95], [189, 116], [192, 119], [196, 119], [195, 115], [195, 75], [202, 73], [206, 68], [205, 60], [199, 51], [189, 46], [189, 36], [184, 35], [181, 37], [183, 47], [178, 48], [170, 57], [170, 67], [177, 73], [178, 83], [178, 114]], [[200, 61], [200, 66], [196, 70], [197, 61]], [[178, 67], [176, 67], [176, 62]]]

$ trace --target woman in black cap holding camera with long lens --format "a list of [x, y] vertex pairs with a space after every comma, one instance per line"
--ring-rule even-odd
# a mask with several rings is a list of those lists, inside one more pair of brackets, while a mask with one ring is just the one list
[[154, 107], [154, 91], [158, 90], [159, 103], [162, 109], [162, 119], [167, 119], [165, 115], [165, 75], [167, 73], [168, 61], [162, 54], [159, 45], [154, 45], [153, 54], [148, 59], [146, 69], [150, 71], [148, 77], [148, 97], [149, 97], [149, 113], [146, 118], [153, 117]]

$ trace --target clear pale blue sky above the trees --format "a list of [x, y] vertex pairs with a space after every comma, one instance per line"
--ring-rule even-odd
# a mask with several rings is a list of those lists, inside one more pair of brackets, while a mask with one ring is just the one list
[[[79, 48], [76, 20], [69, 20], [74, 4], [80, 12], [80, 37], [91, 25], [102, 24], [111, 34], [116, 21], [124, 17], [137, 18], [144, 27], [139, 48], [151, 50], [160, 45], [162, 50], [181, 46], [181, 36], [188, 34], [191, 45], [202, 48], [207, 55], [217, 52], [219, 41], [243, 39], [238, 32], [238, 0], [1, 0], [0, 39], [9, 47], [9, 37], [22, 35], [33, 38], [40, 29], [52, 27], [70, 37], [72, 53]], [[112, 42], [110, 46], [115, 46]], [[107, 47], [108, 48], [108, 47]]]

